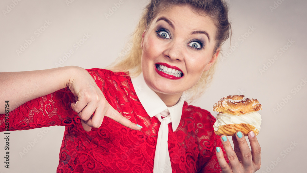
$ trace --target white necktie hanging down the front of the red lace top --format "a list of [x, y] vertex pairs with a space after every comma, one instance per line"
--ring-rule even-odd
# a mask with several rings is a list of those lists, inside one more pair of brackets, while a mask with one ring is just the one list
[[[161, 122], [159, 131], [158, 131], [158, 139], [157, 139], [157, 147], [153, 161], [153, 173], [171, 173], [171, 161], [169, 158], [169, 149], [167, 140], [169, 138], [169, 126], [168, 124], [171, 122], [171, 116], [168, 115], [169, 111], [166, 109], [165, 111], [156, 115], [158, 120]], [[166, 116], [165, 118], [161, 118], [162, 116]]]

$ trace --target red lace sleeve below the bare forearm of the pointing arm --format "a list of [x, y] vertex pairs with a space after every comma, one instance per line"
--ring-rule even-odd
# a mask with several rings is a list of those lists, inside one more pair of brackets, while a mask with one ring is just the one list
[[[5, 114], [0, 114], [0, 131], [28, 130], [48, 126], [67, 126], [78, 124], [79, 116], [71, 108], [75, 102], [74, 94], [69, 88], [64, 88], [38, 97], [22, 104], [9, 112], [8, 122]], [[9, 102], [9, 104], [14, 104]]]

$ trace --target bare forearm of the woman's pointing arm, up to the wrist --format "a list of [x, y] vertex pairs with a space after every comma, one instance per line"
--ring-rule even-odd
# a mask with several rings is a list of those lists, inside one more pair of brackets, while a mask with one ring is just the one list
[[[1, 72], [0, 105], [9, 101], [12, 111], [29, 100], [66, 88], [77, 68], [68, 66], [26, 72]], [[3, 113], [4, 106], [0, 106], [0, 114]]]

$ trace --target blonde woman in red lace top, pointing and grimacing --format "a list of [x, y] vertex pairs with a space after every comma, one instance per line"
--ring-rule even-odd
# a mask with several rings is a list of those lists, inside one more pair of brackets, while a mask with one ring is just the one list
[[[213, 133], [210, 113], [185, 102], [208, 82], [229, 36], [227, 12], [218, 0], [153, 0], [132, 51], [112, 71], [1, 73], [1, 101], [15, 109], [7, 114], [9, 130], [65, 125], [58, 172], [257, 171], [261, 153], [253, 133], [252, 151], [236, 136], [235, 152], [226, 136]], [[37, 81], [37, 92], [21, 97]]]

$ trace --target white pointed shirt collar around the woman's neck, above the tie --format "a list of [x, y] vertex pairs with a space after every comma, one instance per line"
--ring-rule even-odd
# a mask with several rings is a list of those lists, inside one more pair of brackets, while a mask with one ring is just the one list
[[165, 109], [169, 110], [173, 132], [175, 132], [180, 123], [182, 108], [185, 102], [184, 93], [180, 97], [177, 104], [172, 107], [167, 107], [161, 98], [146, 84], [143, 73], [141, 73], [138, 77], [131, 77], [131, 81], [138, 99], [151, 118]]

